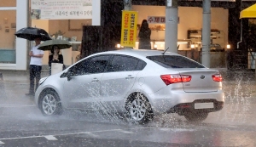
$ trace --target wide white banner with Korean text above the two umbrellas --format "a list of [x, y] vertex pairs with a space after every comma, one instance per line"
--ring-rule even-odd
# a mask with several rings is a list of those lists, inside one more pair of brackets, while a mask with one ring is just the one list
[[92, 19], [92, 0], [31, 0], [32, 20]]

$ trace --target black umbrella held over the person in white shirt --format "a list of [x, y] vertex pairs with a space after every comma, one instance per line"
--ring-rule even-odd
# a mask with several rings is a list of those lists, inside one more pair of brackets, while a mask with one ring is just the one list
[[35, 38], [40, 37], [41, 41], [47, 41], [51, 40], [49, 37], [49, 34], [44, 30], [40, 28], [35, 28], [35, 27], [25, 27], [20, 29], [15, 33], [16, 37], [21, 37], [30, 41], [35, 40]]

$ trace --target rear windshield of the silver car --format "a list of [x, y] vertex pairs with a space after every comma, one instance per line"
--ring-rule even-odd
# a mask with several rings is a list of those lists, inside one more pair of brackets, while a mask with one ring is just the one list
[[166, 68], [205, 68], [192, 59], [178, 55], [156, 55], [147, 58]]

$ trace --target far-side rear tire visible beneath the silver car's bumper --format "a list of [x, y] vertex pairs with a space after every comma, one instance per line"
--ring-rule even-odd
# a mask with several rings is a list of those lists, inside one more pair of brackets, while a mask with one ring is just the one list
[[207, 112], [188, 112], [184, 114], [189, 122], [203, 122], [207, 119]]

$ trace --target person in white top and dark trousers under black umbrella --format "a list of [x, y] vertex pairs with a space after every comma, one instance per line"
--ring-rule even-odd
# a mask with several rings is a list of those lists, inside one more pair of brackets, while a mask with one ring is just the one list
[[[35, 91], [38, 88], [38, 82], [41, 78], [44, 51], [38, 49], [38, 46], [41, 43], [41, 38], [36, 38], [35, 42], [36, 42], [36, 45], [32, 47], [32, 50], [29, 52], [29, 56], [31, 57], [30, 65], [29, 65], [30, 88], [29, 88], [29, 93], [26, 93], [26, 95], [35, 94]], [[35, 82], [36, 82], [36, 88], [35, 88]]]

